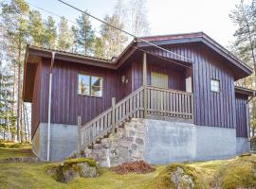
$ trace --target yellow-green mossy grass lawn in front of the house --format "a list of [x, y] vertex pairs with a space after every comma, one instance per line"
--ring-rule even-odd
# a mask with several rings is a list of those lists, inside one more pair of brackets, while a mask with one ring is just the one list
[[[1, 147], [0, 159], [9, 157], [29, 157], [29, 147]], [[183, 163], [194, 168], [196, 180], [202, 183], [202, 188], [211, 188], [212, 181], [231, 189], [236, 186], [255, 188], [256, 156], [245, 156], [224, 161], [210, 161], [202, 163]], [[168, 166], [155, 165], [155, 172], [148, 174], [118, 175], [108, 168], [100, 169], [100, 177], [79, 179], [68, 183], [61, 183], [46, 174], [46, 168], [57, 163], [0, 163], [0, 188], [90, 188], [90, 189], [149, 189], [159, 188], [159, 176], [165, 176]], [[231, 170], [231, 171], [230, 171]], [[167, 172], [166, 172], [167, 173]], [[245, 177], [243, 177], [245, 175]], [[170, 180], [170, 176], [166, 177]], [[247, 179], [249, 178], [249, 179]], [[162, 179], [162, 178], [160, 178]]]

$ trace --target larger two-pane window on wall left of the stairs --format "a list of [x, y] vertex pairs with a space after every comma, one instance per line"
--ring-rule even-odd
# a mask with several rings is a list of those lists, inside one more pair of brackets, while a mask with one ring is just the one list
[[102, 77], [79, 75], [78, 94], [102, 96]]

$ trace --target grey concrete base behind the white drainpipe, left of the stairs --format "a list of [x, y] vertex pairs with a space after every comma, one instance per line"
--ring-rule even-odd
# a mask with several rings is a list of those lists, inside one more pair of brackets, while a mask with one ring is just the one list
[[[51, 124], [50, 161], [62, 161], [77, 149], [77, 126]], [[34, 153], [42, 160], [47, 159], [47, 124], [40, 123], [32, 140]]]

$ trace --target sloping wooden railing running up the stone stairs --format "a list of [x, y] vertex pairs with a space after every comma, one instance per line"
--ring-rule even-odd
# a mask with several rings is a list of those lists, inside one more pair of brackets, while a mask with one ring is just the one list
[[143, 88], [129, 94], [112, 107], [86, 123], [81, 128], [81, 146], [88, 146], [101, 139], [131, 117], [143, 116]]

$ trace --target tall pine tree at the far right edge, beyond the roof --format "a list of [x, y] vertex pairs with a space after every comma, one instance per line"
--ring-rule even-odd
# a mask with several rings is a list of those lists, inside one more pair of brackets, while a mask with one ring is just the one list
[[[232, 22], [237, 26], [234, 36], [236, 37], [235, 43], [232, 45], [233, 52], [242, 60], [245, 60], [248, 65], [254, 68], [252, 76], [244, 78], [237, 82], [237, 84], [244, 87], [256, 87], [256, 9], [255, 2], [247, 5], [242, 0], [230, 13]], [[256, 101], [253, 99], [249, 104], [251, 112], [251, 128], [252, 135], [256, 129]]]

